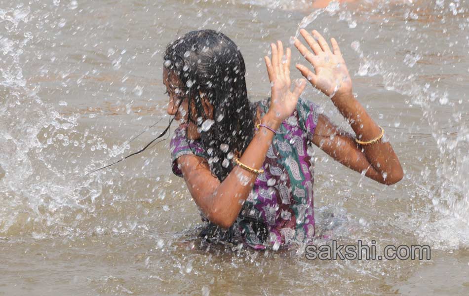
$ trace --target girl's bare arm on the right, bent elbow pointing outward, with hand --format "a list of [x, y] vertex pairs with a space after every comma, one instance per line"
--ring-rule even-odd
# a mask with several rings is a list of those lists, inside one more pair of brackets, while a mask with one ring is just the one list
[[[296, 66], [298, 70], [314, 87], [331, 97], [361, 141], [366, 142], [378, 137], [381, 134], [380, 127], [352, 95], [352, 80], [337, 41], [331, 38], [331, 51], [326, 40], [317, 31], [313, 31], [313, 36], [304, 29], [300, 33], [314, 54], [298, 39], [295, 40], [295, 46], [313, 65], [315, 73], [300, 64]], [[330, 137], [331, 135], [335, 136]], [[404, 176], [397, 155], [389, 142], [358, 145], [352, 135], [337, 135], [337, 127], [324, 115], [319, 116], [313, 143], [353, 170], [366, 170], [367, 177], [380, 183], [391, 185]]]

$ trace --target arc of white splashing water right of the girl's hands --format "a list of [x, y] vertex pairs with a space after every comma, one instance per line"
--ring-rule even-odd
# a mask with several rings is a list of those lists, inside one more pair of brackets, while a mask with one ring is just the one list
[[[436, 6], [444, 8], [443, 2], [436, 3]], [[459, 7], [459, 3], [451, 3], [448, 6], [452, 12], [455, 11], [455, 6]], [[460, 12], [464, 12], [464, 8]], [[346, 21], [349, 25], [349, 28], [356, 27], [356, 20], [352, 18], [352, 14], [349, 11], [340, 11], [340, 5], [337, 1], [331, 1], [326, 8], [314, 10], [311, 14], [304, 17], [295, 33], [295, 38], [299, 36], [300, 29], [307, 28], [312, 24], [318, 16], [321, 16], [324, 12], [327, 12], [330, 16], [339, 16], [340, 21]], [[454, 14], [454, 13], [453, 13]], [[455, 14], [454, 14], [455, 15]], [[415, 18], [417, 19], [417, 18]], [[291, 43], [294, 38], [292, 37]], [[366, 56], [360, 48], [360, 43], [358, 41], [353, 41], [351, 43], [352, 49], [358, 53], [361, 63], [357, 74], [359, 76], [381, 76], [383, 78], [384, 87], [389, 91], [394, 91], [399, 94], [408, 96], [411, 100], [409, 105], [417, 104], [422, 109], [422, 113], [426, 118], [430, 128], [431, 136], [437, 144], [439, 150], [439, 157], [436, 158], [434, 167], [436, 170], [434, 173], [437, 176], [438, 184], [435, 185], [435, 188], [432, 189], [430, 193], [430, 199], [434, 209], [439, 213], [443, 214], [445, 217], [452, 217], [455, 220], [451, 222], [452, 225], [463, 222], [461, 229], [467, 228], [469, 225], [469, 188], [466, 169], [468, 168], [468, 159], [469, 157], [464, 155], [462, 151], [468, 148], [468, 139], [469, 139], [469, 129], [465, 125], [461, 125], [457, 131], [454, 132], [452, 137], [448, 137], [448, 133], [441, 128], [441, 123], [437, 121], [434, 117], [434, 114], [438, 112], [438, 105], [434, 103], [439, 102], [441, 105], [448, 103], [448, 94], [441, 93], [438, 90], [431, 90], [430, 85], [426, 84], [424, 86], [420, 85], [415, 77], [406, 76], [404, 74], [399, 74], [399, 70], [394, 67], [387, 65], [384, 61], [374, 60], [370, 56]], [[404, 63], [407, 64], [410, 68], [422, 59], [422, 55], [413, 53], [407, 54]], [[437, 99], [437, 101], [435, 100]], [[461, 113], [460, 113], [461, 114]], [[456, 124], [459, 120], [456, 120]], [[440, 227], [447, 228], [443, 226], [451, 221], [448, 218], [442, 218], [441, 221], [433, 222], [430, 224], [430, 227]], [[425, 231], [426, 235], [428, 233], [435, 233], [434, 231]], [[435, 237], [430, 239], [437, 241], [439, 239], [444, 239], [444, 237], [439, 237], [438, 233], [447, 236], [446, 231], [438, 231], [435, 233]], [[460, 240], [456, 244], [453, 244], [449, 240], [449, 245], [446, 247], [454, 248], [458, 247], [459, 244], [468, 245], [469, 243], [469, 230], [459, 230], [457, 236], [460, 237]], [[462, 237], [461, 237], [462, 235]], [[428, 237], [427, 237], [428, 238]], [[443, 246], [444, 248], [445, 246]]]

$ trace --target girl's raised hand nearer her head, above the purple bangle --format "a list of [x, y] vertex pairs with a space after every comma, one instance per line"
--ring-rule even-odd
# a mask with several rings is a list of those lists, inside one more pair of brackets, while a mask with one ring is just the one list
[[301, 79], [296, 82], [295, 88], [293, 92], [291, 92], [291, 50], [287, 48], [284, 57], [281, 41], [277, 41], [277, 45], [272, 43], [271, 47], [272, 60], [268, 56], [264, 57], [272, 87], [272, 99], [269, 113], [272, 113], [275, 120], [281, 123], [295, 111], [298, 98], [305, 89], [306, 81], [305, 79]]

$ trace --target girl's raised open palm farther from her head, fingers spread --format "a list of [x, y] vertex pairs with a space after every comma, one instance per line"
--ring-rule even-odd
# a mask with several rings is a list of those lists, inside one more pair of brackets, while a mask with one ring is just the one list
[[296, 68], [326, 96], [351, 94], [352, 80], [336, 39], [331, 38], [331, 51], [324, 37], [316, 30], [312, 33], [313, 36], [304, 29], [300, 31], [313, 53], [298, 39], [295, 39], [295, 47], [313, 65], [314, 73], [301, 64], [297, 64]]

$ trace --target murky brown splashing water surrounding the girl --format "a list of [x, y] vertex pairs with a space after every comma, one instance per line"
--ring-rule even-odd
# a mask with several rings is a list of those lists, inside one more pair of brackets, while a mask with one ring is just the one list
[[[468, 11], [464, 0], [0, 0], [0, 295], [467, 294]], [[430, 261], [201, 244], [169, 141], [87, 175], [166, 126], [162, 51], [176, 36], [232, 37], [259, 100], [269, 43], [300, 27], [339, 41], [406, 173], [379, 185], [314, 148], [317, 242], [429, 244]], [[328, 98], [304, 96], [346, 126]]]

